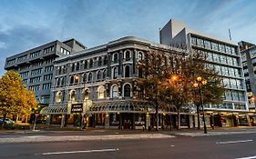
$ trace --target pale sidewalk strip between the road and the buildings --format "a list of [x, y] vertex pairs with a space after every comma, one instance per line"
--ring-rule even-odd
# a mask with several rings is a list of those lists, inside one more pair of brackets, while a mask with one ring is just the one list
[[179, 136], [211, 136], [228, 134], [252, 134], [256, 133], [256, 127], [225, 127], [214, 130], [208, 128], [208, 134], [203, 129], [181, 129], [181, 130], [113, 130], [113, 129], [86, 129], [80, 131], [70, 130], [18, 130], [0, 131], [0, 144], [10, 143], [40, 143], [40, 142], [68, 142], [68, 141], [100, 141], [100, 140], [127, 140], [127, 139], [160, 139]]

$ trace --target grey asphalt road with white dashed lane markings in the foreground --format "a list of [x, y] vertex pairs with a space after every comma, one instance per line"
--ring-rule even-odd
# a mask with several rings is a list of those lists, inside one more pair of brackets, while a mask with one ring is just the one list
[[255, 147], [255, 133], [176, 135], [168, 139], [0, 144], [0, 159], [236, 159], [256, 158]]

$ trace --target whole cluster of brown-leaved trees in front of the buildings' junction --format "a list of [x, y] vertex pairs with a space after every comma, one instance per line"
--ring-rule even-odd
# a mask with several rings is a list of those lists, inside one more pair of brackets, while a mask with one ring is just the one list
[[[178, 112], [182, 106], [200, 104], [200, 94], [193, 87], [198, 76], [208, 81], [203, 87], [204, 104], [216, 104], [222, 101], [224, 86], [221, 77], [213, 68], [207, 67], [207, 55], [186, 51], [153, 51], [145, 55], [138, 63], [141, 73], [138, 86], [144, 90], [144, 99], [156, 107], [175, 106]], [[157, 115], [158, 120], [158, 115]], [[158, 126], [158, 122], [157, 122]]]

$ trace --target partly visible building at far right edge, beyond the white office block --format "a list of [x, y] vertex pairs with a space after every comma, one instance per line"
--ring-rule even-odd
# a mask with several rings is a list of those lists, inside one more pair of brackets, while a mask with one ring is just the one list
[[239, 42], [239, 46], [241, 49], [241, 64], [244, 72], [245, 84], [249, 99], [249, 109], [251, 112], [255, 112], [256, 45], [241, 41]]

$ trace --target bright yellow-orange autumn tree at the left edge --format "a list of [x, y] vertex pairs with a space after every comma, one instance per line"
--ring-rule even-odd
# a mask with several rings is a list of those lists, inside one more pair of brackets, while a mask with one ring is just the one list
[[0, 79], [0, 114], [28, 114], [36, 107], [35, 94], [26, 89], [21, 76], [11, 70]]

